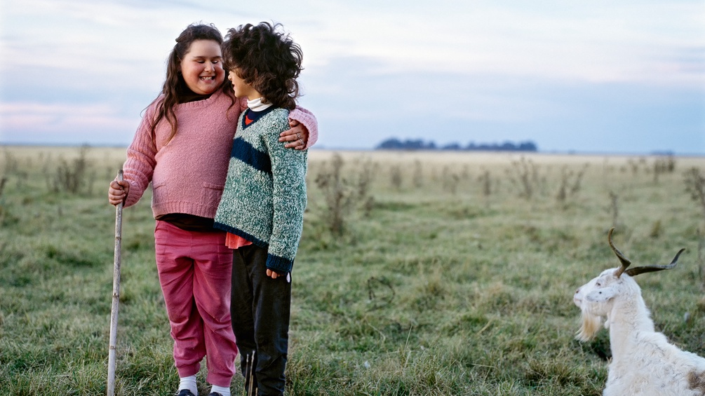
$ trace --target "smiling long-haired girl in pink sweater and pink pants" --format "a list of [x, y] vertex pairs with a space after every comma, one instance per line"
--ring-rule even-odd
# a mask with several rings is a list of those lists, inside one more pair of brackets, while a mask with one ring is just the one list
[[[111, 204], [131, 206], [152, 182], [157, 270], [174, 340], [179, 396], [198, 396], [196, 373], [207, 359], [211, 396], [230, 396], [238, 349], [231, 328], [233, 252], [213, 228], [231, 144], [245, 99], [235, 99], [221, 64], [223, 38], [213, 25], [190, 25], [168, 58], [162, 93], [147, 107], [123, 165], [111, 182]], [[280, 142], [307, 149], [316, 119], [290, 113]]]

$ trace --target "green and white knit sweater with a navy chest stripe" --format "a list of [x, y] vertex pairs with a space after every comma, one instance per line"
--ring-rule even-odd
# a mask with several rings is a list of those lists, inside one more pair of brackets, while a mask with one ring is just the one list
[[240, 115], [214, 226], [268, 249], [266, 267], [288, 273], [303, 228], [308, 153], [278, 141], [288, 110], [264, 112], [249, 125], [247, 111]]

